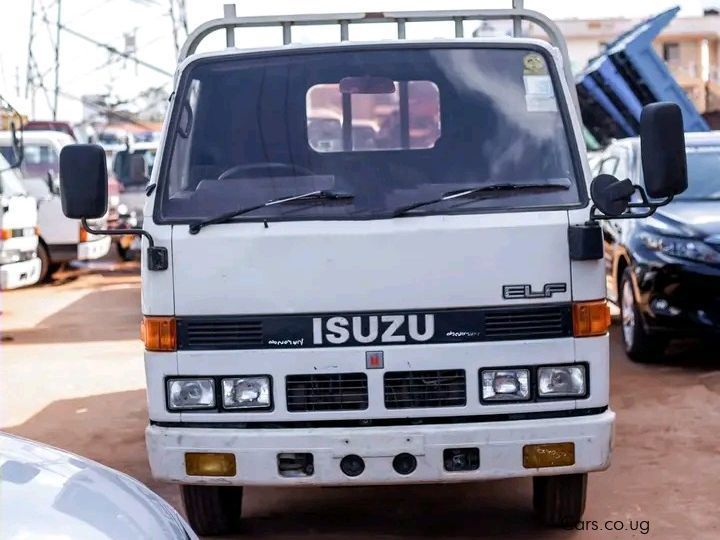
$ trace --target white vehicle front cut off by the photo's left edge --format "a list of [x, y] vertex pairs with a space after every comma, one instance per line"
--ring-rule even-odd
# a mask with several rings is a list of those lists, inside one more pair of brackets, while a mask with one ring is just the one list
[[0, 155], [0, 289], [33, 285], [40, 279], [37, 204], [20, 175]]

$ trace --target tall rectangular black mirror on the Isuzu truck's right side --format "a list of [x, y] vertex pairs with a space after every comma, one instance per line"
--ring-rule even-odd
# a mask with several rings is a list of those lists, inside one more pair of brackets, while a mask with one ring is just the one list
[[687, 189], [685, 133], [680, 107], [670, 102], [643, 107], [640, 148], [645, 190], [651, 198], [673, 197]]

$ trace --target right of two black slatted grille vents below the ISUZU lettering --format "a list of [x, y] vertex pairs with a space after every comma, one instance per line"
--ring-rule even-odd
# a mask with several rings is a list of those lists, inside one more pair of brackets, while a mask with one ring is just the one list
[[466, 401], [465, 371], [462, 369], [385, 373], [387, 409], [462, 407]]

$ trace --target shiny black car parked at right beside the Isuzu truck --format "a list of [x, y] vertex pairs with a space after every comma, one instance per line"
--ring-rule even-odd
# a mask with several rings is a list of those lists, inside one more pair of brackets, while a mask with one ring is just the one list
[[[686, 133], [688, 189], [644, 220], [603, 222], [608, 294], [637, 361], [675, 337], [720, 335], [720, 132]], [[640, 178], [640, 140], [613, 142], [596, 173]]]

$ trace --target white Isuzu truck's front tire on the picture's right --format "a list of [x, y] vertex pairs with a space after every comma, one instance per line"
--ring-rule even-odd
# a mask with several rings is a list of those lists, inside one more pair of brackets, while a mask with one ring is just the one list
[[585, 512], [587, 473], [533, 477], [533, 507], [549, 527], [572, 528]]

